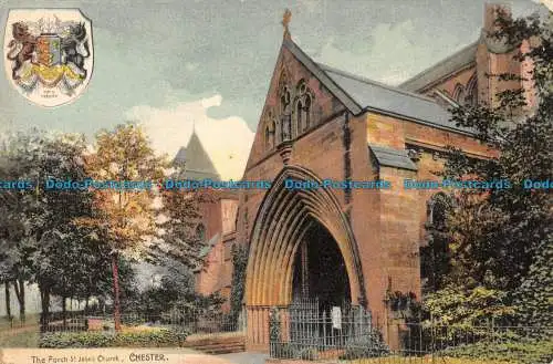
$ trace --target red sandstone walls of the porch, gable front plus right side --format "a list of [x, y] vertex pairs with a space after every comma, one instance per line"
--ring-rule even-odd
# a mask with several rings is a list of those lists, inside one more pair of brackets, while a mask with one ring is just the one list
[[[333, 100], [317, 80], [311, 76], [285, 49], [279, 58], [276, 70], [280, 70], [283, 62], [288, 64], [292, 85], [301, 79], [307, 80], [310, 87], [315, 92], [314, 115], [317, 116], [314, 121], [322, 123], [309, 134], [295, 138], [290, 164], [303, 166], [321, 178], [343, 180], [345, 178], [344, 116], [331, 117], [343, 110], [343, 106]], [[459, 75], [459, 77], [469, 76], [468, 72]], [[276, 107], [278, 81], [276, 72], [271, 82], [264, 110]], [[467, 136], [383, 115], [353, 117], [349, 127], [352, 179], [372, 180], [379, 176], [380, 179], [390, 180], [396, 186], [393, 190], [383, 191], [353, 190], [349, 204], [346, 204], [343, 190], [333, 190], [343, 210], [351, 211], [351, 225], [361, 254], [368, 303], [375, 322], [382, 326], [387, 320], [384, 299], [388, 282], [392, 282], [393, 290], [410, 291], [420, 297], [418, 249], [424, 240], [426, 200], [431, 193], [406, 191], [403, 187], [398, 187], [403, 186], [404, 178], [436, 178], [431, 175], [431, 170], [439, 167], [439, 163], [432, 157], [424, 156], [419, 162], [418, 174], [383, 167], [377, 175], [369, 159], [367, 143], [395, 149], [405, 149], [407, 145], [416, 144], [438, 150], [444, 149], [446, 145], [455, 144], [470, 154], [480, 156], [486, 155], [488, 150]], [[272, 180], [283, 168], [281, 156], [275, 149], [265, 150], [262, 137], [262, 128], [259, 127], [244, 174], [247, 180]], [[242, 191], [238, 240], [249, 241], [264, 194], [265, 190]], [[354, 301], [357, 299], [353, 298]]]

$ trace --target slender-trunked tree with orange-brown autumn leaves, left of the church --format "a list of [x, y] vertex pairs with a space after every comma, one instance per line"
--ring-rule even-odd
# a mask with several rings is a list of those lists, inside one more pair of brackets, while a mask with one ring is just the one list
[[96, 180], [144, 183], [143, 189], [125, 187], [98, 189], [94, 194], [92, 218], [81, 219], [109, 243], [114, 289], [115, 329], [121, 330], [121, 288], [118, 262], [121, 253], [140, 253], [156, 233], [154, 189], [147, 184], [163, 177], [165, 163], [152, 149], [140, 127], [118, 125], [113, 132], [96, 136], [96, 152], [87, 158], [88, 176]]

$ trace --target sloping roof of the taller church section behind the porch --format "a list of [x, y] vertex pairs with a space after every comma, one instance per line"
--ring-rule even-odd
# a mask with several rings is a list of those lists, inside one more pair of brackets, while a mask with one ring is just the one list
[[463, 67], [476, 62], [477, 49], [479, 44], [480, 39], [405, 81], [399, 85], [399, 89], [411, 92], [419, 91], [431, 83], [438, 82], [444, 77], [462, 70]]

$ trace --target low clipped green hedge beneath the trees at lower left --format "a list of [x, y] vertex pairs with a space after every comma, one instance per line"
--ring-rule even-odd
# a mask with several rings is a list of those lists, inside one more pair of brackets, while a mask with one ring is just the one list
[[40, 339], [39, 347], [164, 347], [181, 346], [187, 333], [168, 329], [143, 332], [84, 332], [48, 333]]

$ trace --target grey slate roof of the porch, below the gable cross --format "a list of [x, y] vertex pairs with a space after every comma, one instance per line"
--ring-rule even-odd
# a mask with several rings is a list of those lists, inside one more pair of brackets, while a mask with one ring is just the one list
[[449, 112], [432, 98], [315, 63], [292, 40], [284, 39], [283, 46], [292, 52], [354, 115], [372, 111], [419, 124], [471, 134], [470, 129], [457, 127], [450, 123]]

